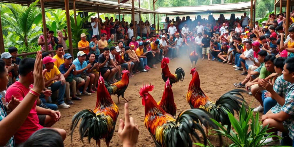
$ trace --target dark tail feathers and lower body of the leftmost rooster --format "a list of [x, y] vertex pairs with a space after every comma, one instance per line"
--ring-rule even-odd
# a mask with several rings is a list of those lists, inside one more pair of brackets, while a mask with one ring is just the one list
[[74, 129], [80, 120], [81, 123], [78, 131], [81, 136], [80, 140], [82, 142], [83, 138], [88, 136], [89, 142], [91, 138], [93, 138], [97, 143], [98, 140], [105, 139], [111, 135], [111, 130], [115, 127], [110, 116], [105, 116], [102, 113], [96, 115], [96, 113], [94, 113], [92, 110], [85, 109], [76, 113], [71, 120], [71, 141]]

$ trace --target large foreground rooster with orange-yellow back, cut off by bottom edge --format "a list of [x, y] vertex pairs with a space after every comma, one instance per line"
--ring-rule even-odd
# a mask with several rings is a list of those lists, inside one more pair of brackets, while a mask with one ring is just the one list
[[200, 137], [195, 132], [196, 130], [200, 131], [204, 139], [204, 144], [206, 145], [207, 140], [204, 136], [205, 132], [201, 127], [201, 123], [212, 128], [217, 128], [216, 124], [210, 120], [210, 114], [203, 109], [189, 109], [182, 111], [178, 115], [178, 118], [175, 119], [156, 104], [156, 101], [149, 93], [153, 88], [154, 86], [151, 84], [143, 85], [139, 94], [142, 97], [142, 104], [145, 106], [144, 123], [156, 147], [192, 147], [193, 142], [191, 136], [200, 141]]

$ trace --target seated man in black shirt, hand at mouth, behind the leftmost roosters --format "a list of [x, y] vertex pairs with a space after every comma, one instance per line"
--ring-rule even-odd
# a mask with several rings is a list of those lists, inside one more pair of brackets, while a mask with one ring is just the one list
[[99, 64], [100, 73], [103, 76], [103, 78], [108, 83], [113, 84], [113, 82], [111, 81], [111, 78], [116, 73], [116, 68], [114, 68], [113, 66], [109, 64], [110, 62], [109, 54], [110, 54], [110, 51], [108, 47], [105, 47], [103, 49], [103, 54], [100, 54], [98, 57], [98, 64]]

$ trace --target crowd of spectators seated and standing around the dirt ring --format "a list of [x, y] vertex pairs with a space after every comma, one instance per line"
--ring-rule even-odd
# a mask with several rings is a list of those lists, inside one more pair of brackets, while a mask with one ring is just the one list
[[[240, 19], [230, 20], [222, 14], [218, 20], [197, 16], [191, 21], [187, 16], [174, 21], [166, 17], [158, 33], [148, 21], [128, 24], [124, 19], [105, 20], [102, 23], [91, 18], [93, 34], [89, 41], [86, 34], [81, 34], [77, 58], [64, 51], [66, 31], [57, 31], [55, 37], [48, 28], [48, 49], [55, 49], [55, 54], [38, 52], [36, 59], [20, 59], [13, 46], [1, 54], [0, 81], [5, 84], [1, 84], [0, 91], [5, 103], [0, 103], [0, 126], [4, 128], [1, 133], [6, 134], [0, 139], [1, 146], [32, 141], [30, 136], [35, 137], [41, 132], [38, 130], [59, 121], [59, 108], [70, 108], [74, 100], [82, 100], [81, 95], [95, 93], [100, 74], [112, 84], [121, 80], [123, 69], [133, 77], [157, 68], [163, 57], [173, 60], [192, 51], [202, 60], [207, 56], [209, 61], [232, 65], [232, 70], [241, 71], [240, 76], [245, 78], [234, 86], [245, 88], [260, 103], [253, 111], [264, 112], [261, 121], [271, 128], [268, 132], [279, 131], [285, 136], [282, 142], [277, 137], [263, 141], [286, 145], [285, 140], [290, 137], [294, 144], [294, 27], [285, 36], [284, 13], [270, 14], [268, 21], [257, 21], [254, 25], [249, 25], [246, 13]], [[116, 45], [109, 46], [113, 42]], [[45, 50], [43, 35], [38, 45]], [[66, 131], [54, 128], [51, 133], [56, 131], [64, 140]]]

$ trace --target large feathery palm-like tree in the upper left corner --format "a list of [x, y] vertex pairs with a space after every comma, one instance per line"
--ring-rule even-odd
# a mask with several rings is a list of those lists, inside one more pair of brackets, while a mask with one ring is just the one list
[[40, 22], [42, 19], [41, 10], [36, 7], [39, 0], [28, 7], [16, 4], [4, 4], [1, 10], [1, 21], [3, 29], [15, 33], [22, 41], [22, 46], [30, 47], [36, 43], [42, 34]]

